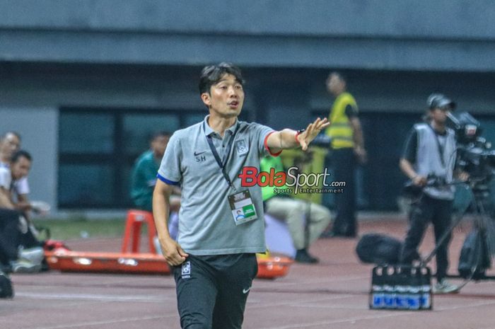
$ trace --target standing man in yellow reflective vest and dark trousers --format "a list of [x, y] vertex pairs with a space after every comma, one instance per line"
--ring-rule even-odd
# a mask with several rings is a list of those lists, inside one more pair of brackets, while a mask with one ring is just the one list
[[325, 133], [332, 140], [334, 181], [345, 182], [344, 192], [335, 195], [335, 217], [327, 237], [355, 237], [356, 183], [354, 171], [358, 163], [366, 163], [363, 131], [358, 117], [358, 105], [347, 92], [347, 81], [339, 72], [331, 72], [327, 78], [327, 90], [335, 97], [330, 111], [330, 127]]

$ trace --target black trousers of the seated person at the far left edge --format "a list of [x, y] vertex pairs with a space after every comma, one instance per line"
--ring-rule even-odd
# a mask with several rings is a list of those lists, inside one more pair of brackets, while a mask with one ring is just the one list
[[0, 208], [0, 262], [4, 265], [18, 258], [19, 215], [15, 210]]

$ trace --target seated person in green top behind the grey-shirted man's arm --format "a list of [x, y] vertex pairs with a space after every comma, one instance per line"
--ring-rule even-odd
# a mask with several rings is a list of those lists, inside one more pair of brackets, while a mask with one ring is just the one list
[[[150, 140], [150, 149], [137, 158], [132, 168], [131, 198], [134, 206], [147, 212], [153, 212], [153, 190], [156, 184], [156, 173], [161, 159], [165, 154], [170, 134], [157, 132]], [[170, 212], [176, 213], [180, 209], [180, 188], [175, 187], [173, 197], [170, 197]], [[170, 214], [170, 234], [177, 233], [177, 214]]]

